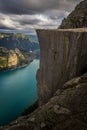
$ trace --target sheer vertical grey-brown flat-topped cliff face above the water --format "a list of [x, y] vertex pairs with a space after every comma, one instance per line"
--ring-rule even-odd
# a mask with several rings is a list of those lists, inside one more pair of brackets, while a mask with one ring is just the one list
[[37, 73], [40, 105], [69, 79], [87, 71], [87, 29], [37, 30], [41, 58]]

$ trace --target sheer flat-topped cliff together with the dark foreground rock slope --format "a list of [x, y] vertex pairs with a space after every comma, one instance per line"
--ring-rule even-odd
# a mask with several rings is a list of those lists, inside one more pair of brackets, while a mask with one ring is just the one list
[[37, 33], [40, 106], [0, 130], [87, 130], [87, 29]]

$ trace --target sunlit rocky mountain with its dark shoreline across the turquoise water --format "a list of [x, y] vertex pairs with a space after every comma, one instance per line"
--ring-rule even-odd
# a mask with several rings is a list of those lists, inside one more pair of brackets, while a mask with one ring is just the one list
[[27, 66], [34, 58], [34, 54], [22, 53], [18, 48], [8, 50], [0, 47], [0, 71]]

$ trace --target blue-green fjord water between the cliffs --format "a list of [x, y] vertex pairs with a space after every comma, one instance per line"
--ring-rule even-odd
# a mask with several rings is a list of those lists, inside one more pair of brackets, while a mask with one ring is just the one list
[[0, 125], [15, 120], [37, 99], [36, 72], [39, 60], [29, 66], [0, 73]]

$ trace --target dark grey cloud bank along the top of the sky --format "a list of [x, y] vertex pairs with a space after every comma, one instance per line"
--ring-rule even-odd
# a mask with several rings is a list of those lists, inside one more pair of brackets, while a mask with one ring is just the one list
[[6, 14], [35, 14], [47, 10], [71, 11], [81, 0], [0, 0], [0, 12]]

